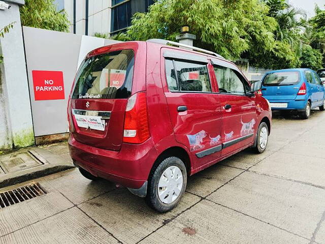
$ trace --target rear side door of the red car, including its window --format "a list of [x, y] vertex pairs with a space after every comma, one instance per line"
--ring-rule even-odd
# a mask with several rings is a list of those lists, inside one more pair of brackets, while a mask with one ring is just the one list
[[161, 52], [161, 80], [175, 139], [190, 150], [198, 168], [219, 158], [222, 148], [220, 103], [210, 79], [213, 69], [208, 69], [211, 64], [204, 55], [169, 48]]

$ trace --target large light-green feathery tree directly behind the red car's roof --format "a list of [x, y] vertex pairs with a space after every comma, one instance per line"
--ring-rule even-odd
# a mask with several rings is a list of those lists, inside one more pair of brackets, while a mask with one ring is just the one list
[[131, 40], [174, 40], [182, 25], [197, 36], [196, 46], [237, 59], [243, 52], [276, 47], [277, 22], [260, 0], [161, 0], [137, 13], [126, 32]]

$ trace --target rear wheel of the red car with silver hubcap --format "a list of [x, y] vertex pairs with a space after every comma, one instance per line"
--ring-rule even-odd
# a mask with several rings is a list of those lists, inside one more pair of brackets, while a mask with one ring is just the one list
[[178, 204], [186, 184], [183, 161], [177, 157], [166, 158], [149, 175], [146, 203], [158, 212], [167, 212]]

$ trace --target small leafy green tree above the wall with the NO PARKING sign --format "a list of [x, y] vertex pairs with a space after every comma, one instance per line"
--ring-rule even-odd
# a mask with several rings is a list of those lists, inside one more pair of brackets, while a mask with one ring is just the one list
[[69, 32], [70, 22], [64, 10], [57, 11], [54, 0], [26, 0], [20, 8], [21, 24], [30, 27]]

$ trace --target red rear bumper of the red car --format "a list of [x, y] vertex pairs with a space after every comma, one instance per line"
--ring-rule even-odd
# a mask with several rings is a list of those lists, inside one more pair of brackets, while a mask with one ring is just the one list
[[157, 157], [151, 138], [140, 145], [123, 143], [120, 151], [111, 151], [80, 143], [70, 134], [69, 150], [77, 167], [132, 189], [145, 184]]

